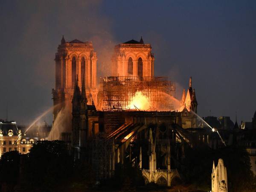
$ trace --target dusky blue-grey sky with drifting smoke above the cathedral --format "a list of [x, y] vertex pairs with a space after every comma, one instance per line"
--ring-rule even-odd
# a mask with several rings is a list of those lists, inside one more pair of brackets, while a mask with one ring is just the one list
[[0, 118], [7, 103], [18, 124], [52, 106], [62, 35], [93, 41], [99, 76], [108, 75], [113, 45], [142, 35], [155, 75], [176, 81], [178, 99], [192, 76], [199, 115], [235, 120], [237, 111], [240, 122], [256, 111], [255, 0], [2, 0], [0, 21]]

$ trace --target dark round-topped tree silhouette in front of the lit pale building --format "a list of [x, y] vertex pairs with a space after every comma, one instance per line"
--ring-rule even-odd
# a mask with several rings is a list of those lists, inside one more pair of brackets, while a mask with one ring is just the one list
[[38, 141], [30, 149], [24, 165], [21, 188], [52, 191], [67, 181], [73, 162], [63, 141]]

